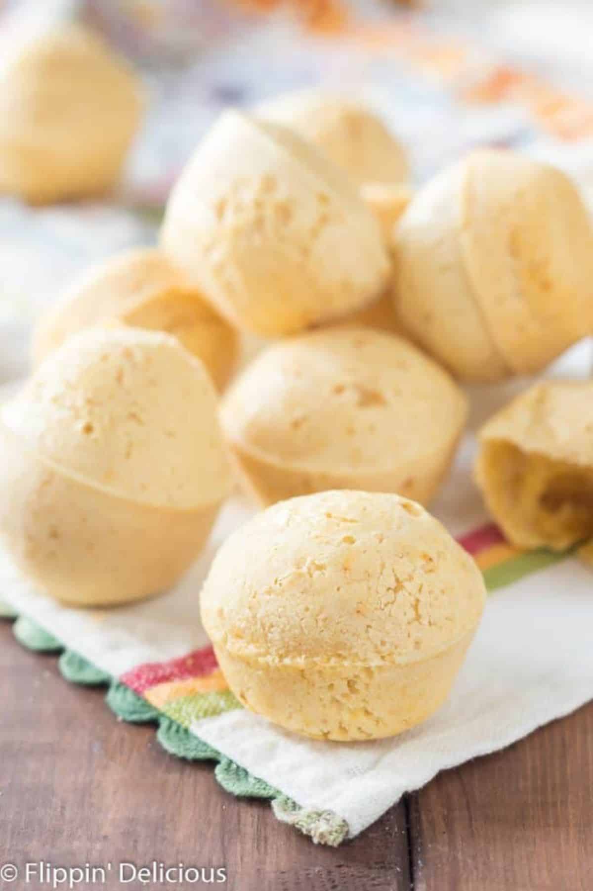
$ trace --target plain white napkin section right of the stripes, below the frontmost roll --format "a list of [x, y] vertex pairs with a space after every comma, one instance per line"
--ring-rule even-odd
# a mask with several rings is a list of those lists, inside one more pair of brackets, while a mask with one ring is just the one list
[[451, 699], [392, 740], [313, 742], [246, 711], [192, 730], [351, 836], [435, 774], [504, 748], [593, 697], [593, 573], [576, 560], [493, 593]]

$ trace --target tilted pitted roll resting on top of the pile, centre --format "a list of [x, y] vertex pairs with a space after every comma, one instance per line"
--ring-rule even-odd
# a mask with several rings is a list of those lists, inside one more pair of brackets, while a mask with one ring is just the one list
[[233, 324], [275, 336], [364, 306], [391, 265], [337, 168], [289, 130], [227, 111], [167, 204], [166, 251]]

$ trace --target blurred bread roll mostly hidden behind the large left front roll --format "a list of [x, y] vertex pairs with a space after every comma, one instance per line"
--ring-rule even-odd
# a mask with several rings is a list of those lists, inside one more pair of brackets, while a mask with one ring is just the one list
[[42, 319], [33, 337], [37, 364], [83, 328], [120, 322], [167, 331], [206, 365], [215, 385], [229, 380], [239, 338], [158, 249], [134, 249], [85, 271]]

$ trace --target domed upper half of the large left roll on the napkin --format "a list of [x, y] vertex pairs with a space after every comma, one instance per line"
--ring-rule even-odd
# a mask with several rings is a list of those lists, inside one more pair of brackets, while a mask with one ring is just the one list
[[213, 384], [166, 334], [82, 331], [39, 365], [2, 418], [46, 462], [132, 501], [184, 510], [230, 487]]

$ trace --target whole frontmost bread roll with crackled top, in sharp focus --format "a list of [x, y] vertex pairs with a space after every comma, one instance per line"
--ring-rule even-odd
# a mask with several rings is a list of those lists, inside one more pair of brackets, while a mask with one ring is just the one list
[[443, 705], [484, 601], [474, 560], [418, 504], [338, 491], [231, 535], [201, 614], [243, 705], [315, 739], [373, 740]]

